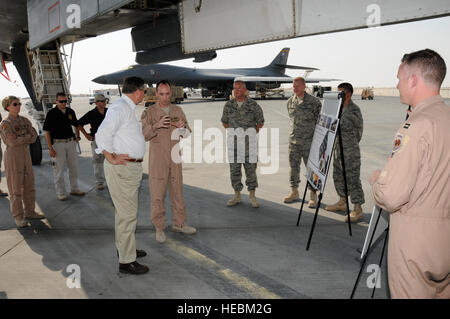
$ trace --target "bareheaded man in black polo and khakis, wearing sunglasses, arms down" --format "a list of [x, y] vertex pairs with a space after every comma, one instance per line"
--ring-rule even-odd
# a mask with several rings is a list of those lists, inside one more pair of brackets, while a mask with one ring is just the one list
[[[53, 162], [56, 195], [59, 200], [67, 200], [64, 171], [69, 168], [70, 195], [84, 196], [78, 188], [77, 142], [80, 140], [78, 120], [75, 112], [66, 107], [65, 93], [56, 94], [56, 106], [48, 111], [44, 122], [45, 137]], [[72, 130], [75, 127], [75, 134]]]

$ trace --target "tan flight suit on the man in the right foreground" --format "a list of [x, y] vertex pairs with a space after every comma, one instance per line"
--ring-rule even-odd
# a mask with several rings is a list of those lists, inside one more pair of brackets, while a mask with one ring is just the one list
[[391, 213], [391, 296], [450, 298], [450, 108], [439, 95], [413, 108], [372, 187]]

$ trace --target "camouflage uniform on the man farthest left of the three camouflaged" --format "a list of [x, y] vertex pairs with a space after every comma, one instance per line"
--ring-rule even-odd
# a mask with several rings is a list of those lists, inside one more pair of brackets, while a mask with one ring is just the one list
[[[245, 98], [240, 107], [236, 99], [232, 99], [225, 104], [221, 121], [228, 124], [231, 129], [242, 128], [245, 132], [247, 129], [256, 129], [258, 124], [264, 123], [264, 114], [258, 103], [248, 97]], [[244, 188], [241, 182], [241, 164], [243, 164], [246, 176], [245, 184], [249, 191], [255, 190], [258, 187], [258, 179], [256, 178], [257, 160], [252, 161], [250, 155], [252, 152], [257, 154], [256, 139], [250, 142], [250, 138], [248, 136], [245, 137], [245, 160], [238, 159], [237, 143], [236, 136], [232, 141], [228, 140], [227, 143], [231, 185], [235, 191], [239, 192]]]

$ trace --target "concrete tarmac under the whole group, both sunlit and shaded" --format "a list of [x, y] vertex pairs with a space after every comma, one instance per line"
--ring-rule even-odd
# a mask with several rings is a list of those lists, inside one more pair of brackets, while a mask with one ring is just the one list
[[[34, 166], [34, 172], [37, 210], [46, 219], [17, 229], [9, 211], [9, 199], [0, 198], [0, 299], [349, 298], [360, 267], [357, 249], [363, 245], [373, 208], [369, 177], [373, 170], [383, 167], [392, 150], [393, 136], [406, 115], [406, 107], [397, 97], [361, 101], [356, 96], [354, 100], [364, 117], [360, 145], [366, 203], [363, 221], [352, 225], [353, 236], [349, 236], [343, 222], [344, 212], [330, 213], [323, 209], [338, 199], [331, 165], [312, 244], [306, 251], [314, 210], [305, 205], [300, 227], [296, 227], [300, 203], [282, 202], [290, 190], [286, 100], [258, 101], [264, 110], [265, 127], [279, 129], [280, 145], [277, 172], [262, 175], [258, 169], [258, 209], [250, 206], [246, 190], [241, 204], [226, 207], [233, 194], [227, 163], [186, 163], [183, 174], [187, 223], [198, 232], [186, 236], [171, 231], [172, 213], [167, 196], [167, 241], [159, 244], [150, 221], [146, 155], [136, 238], [138, 248], [148, 253], [139, 262], [148, 265], [150, 272], [141, 276], [118, 272], [114, 207], [108, 190], [99, 191], [95, 187], [90, 142], [81, 141], [78, 160], [80, 187], [87, 195], [70, 196], [64, 202], [56, 198], [51, 161], [48, 151], [44, 151], [42, 164]], [[201, 132], [207, 128], [224, 132], [220, 123], [224, 103], [187, 100], [181, 106], [192, 127], [194, 120], [201, 120]], [[75, 98], [72, 107], [81, 117], [93, 106], [87, 98]], [[139, 115], [142, 110], [143, 107], [138, 108]], [[22, 114], [25, 113], [22, 109]], [[2, 110], [2, 116], [5, 115]], [[203, 145], [197, 147], [205, 150], [210, 142], [203, 136]], [[225, 145], [224, 141], [222, 144]], [[301, 194], [306, 185], [304, 172], [302, 166]], [[2, 176], [0, 186], [6, 190], [3, 166]], [[243, 182], [245, 185], [245, 174]], [[67, 175], [66, 183], [69, 190]], [[374, 249], [368, 264], [379, 262], [381, 244]], [[385, 261], [386, 257], [381, 288], [376, 289], [375, 298], [388, 296]], [[74, 287], [76, 281], [72, 279], [78, 273], [74, 269], [80, 270], [80, 288]], [[367, 270], [366, 266], [356, 298], [370, 298], [372, 293], [374, 280]]]

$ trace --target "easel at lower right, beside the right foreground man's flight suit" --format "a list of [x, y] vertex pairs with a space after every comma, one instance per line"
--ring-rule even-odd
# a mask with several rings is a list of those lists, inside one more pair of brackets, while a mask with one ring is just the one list
[[[384, 216], [383, 216], [384, 213]], [[387, 217], [386, 217], [387, 215]], [[381, 218], [383, 216], [383, 218]], [[380, 223], [381, 221], [381, 223]], [[381, 229], [381, 230], [380, 230]], [[383, 211], [382, 208], [379, 208], [377, 206], [374, 206], [372, 217], [370, 218], [370, 224], [369, 228], [367, 230], [366, 239], [364, 240], [364, 245], [361, 251], [361, 268], [359, 269], [358, 276], [356, 277], [355, 285], [353, 286], [352, 294], [350, 295], [350, 299], [353, 299], [353, 296], [355, 295], [356, 288], [358, 286], [359, 280], [361, 278], [361, 274], [363, 272], [364, 266], [366, 264], [367, 258], [371, 253], [372, 244], [375, 241], [378, 241], [378, 239], [381, 238], [381, 236], [385, 235], [384, 237], [384, 243], [383, 243], [383, 250], [381, 251], [380, 261], [378, 263], [378, 271], [381, 271], [381, 264], [383, 262], [384, 257], [384, 251], [386, 249], [386, 243], [387, 239], [389, 237], [389, 213], [386, 211]], [[369, 239], [370, 238], [370, 239]], [[380, 273], [376, 275], [377, 280], [379, 279]], [[375, 289], [376, 286], [373, 287], [372, 291], [372, 298], [375, 295]]]

